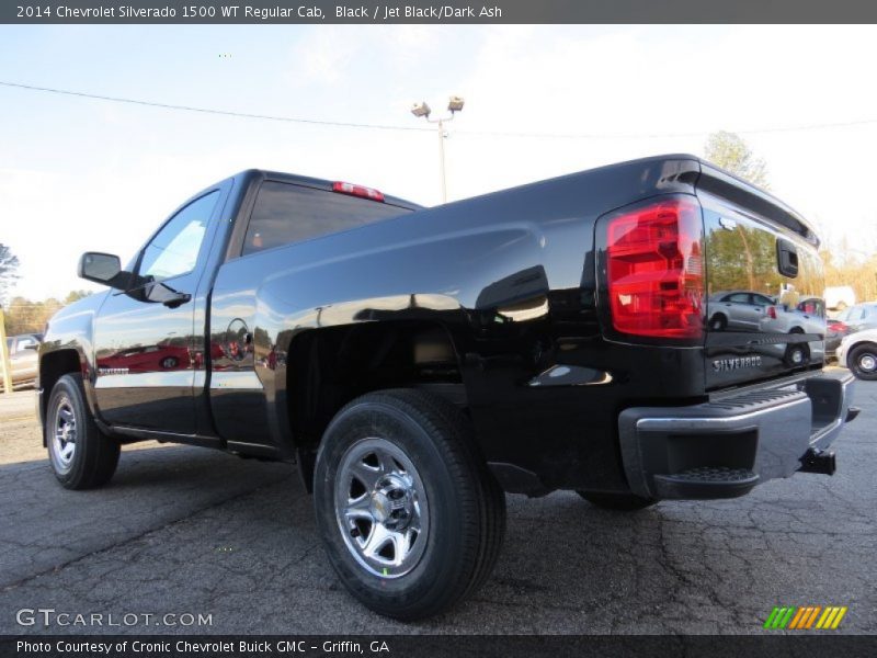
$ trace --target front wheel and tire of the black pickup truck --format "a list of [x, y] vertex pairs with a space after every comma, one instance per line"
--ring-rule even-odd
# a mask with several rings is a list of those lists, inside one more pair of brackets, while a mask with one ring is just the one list
[[98, 429], [79, 375], [64, 375], [55, 384], [43, 433], [52, 470], [66, 488], [93, 489], [113, 477], [118, 441]]

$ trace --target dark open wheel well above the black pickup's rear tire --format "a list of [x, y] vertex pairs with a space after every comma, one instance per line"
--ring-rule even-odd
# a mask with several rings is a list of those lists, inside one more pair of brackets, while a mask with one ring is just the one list
[[423, 388], [466, 406], [453, 339], [437, 322], [312, 329], [293, 339], [287, 363], [289, 428], [303, 460], [344, 405], [373, 390]]

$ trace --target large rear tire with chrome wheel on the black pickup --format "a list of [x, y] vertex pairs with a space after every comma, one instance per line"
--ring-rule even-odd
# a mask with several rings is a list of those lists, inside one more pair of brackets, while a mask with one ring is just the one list
[[[371, 610], [401, 621], [438, 614], [472, 593], [490, 576], [505, 532], [505, 495], [478, 454], [469, 420], [417, 390], [367, 394], [338, 412], [317, 455], [314, 501], [341, 582]], [[394, 504], [399, 509], [386, 515]], [[352, 521], [342, 511], [354, 507], [367, 518]], [[394, 526], [397, 512], [401, 526]], [[425, 536], [414, 530], [421, 524]], [[387, 545], [376, 553], [378, 531], [395, 533], [384, 540], [391, 555]], [[381, 568], [380, 559], [400, 564]]]

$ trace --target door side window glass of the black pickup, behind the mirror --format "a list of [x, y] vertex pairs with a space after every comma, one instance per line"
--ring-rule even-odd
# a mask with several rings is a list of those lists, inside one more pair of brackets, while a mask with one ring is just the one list
[[161, 281], [194, 270], [218, 197], [210, 192], [176, 213], [144, 250], [139, 275]]

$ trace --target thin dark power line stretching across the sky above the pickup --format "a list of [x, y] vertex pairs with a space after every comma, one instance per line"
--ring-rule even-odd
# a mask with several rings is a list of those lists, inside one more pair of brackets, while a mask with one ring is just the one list
[[[110, 97], [83, 91], [71, 91], [67, 89], [55, 89], [50, 87], [37, 87], [35, 84], [23, 84], [20, 82], [7, 82], [0, 80], [0, 86], [23, 89], [27, 91], [42, 91], [46, 93], [57, 93], [62, 95], [79, 97], [96, 101], [109, 101], [113, 103], [128, 103], [132, 105], [144, 105], [148, 107], [159, 107], [161, 110], [179, 110], [183, 112], [200, 112], [202, 114], [216, 114], [220, 116], [232, 116], [237, 118], [254, 118], [262, 121], [276, 121], [285, 123], [299, 123], [319, 126], [337, 126], [345, 128], [368, 128], [377, 131], [407, 131], [414, 133], [432, 132], [430, 128], [418, 126], [395, 126], [387, 124], [366, 124], [353, 122], [322, 121], [317, 118], [304, 118], [294, 116], [277, 116], [271, 114], [255, 114], [249, 112], [234, 112], [230, 110], [216, 110], [213, 107], [196, 107], [192, 105], [175, 105], [172, 103], [159, 103], [155, 101], [144, 101], [139, 99], [126, 99], [121, 97]], [[740, 135], [758, 135], [770, 133], [795, 133], [806, 131], [821, 131], [828, 128], [854, 127], [863, 125], [875, 125], [877, 118], [863, 118], [853, 121], [839, 121], [829, 123], [804, 124], [797, 126], [771, 126], [763, 128], [747, 128], [732, 131]], [[502, 132], [502, 131], [455, 131], [457, 135], [474, 135], [479, 137], [522, 137], [535, 139], [660, 139], [679, 137], [702, 137], [708, 135], [709, 131], [685, 132], [685, 133], [527, 133], [527, 132]]]

